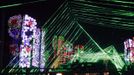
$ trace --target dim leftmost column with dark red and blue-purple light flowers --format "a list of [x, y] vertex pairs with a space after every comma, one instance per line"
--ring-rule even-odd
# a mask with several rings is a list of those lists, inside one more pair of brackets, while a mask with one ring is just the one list
[[12, 54], [11, 59], [14, 59], [11, 65], [17, 63], [18, 61], [21, 22], [21, 15], [12, 16], [8, 20], [8, 33], [10, 36], [9, 50]]

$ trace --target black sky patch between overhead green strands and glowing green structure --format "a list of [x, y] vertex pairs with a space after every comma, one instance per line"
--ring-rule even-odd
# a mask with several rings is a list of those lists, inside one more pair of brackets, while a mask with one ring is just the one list
[[83, 22], [80, 24], [103, 49], [113, 45], [119, 53], [124, 52], [124, 41], [134, 36], [133, 31], [127, 29], [102, 27]]

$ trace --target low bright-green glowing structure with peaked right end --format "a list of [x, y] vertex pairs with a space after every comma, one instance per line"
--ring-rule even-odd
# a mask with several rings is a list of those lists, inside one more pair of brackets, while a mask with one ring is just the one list
[[[71, 59], [71, 63], [73, 63], [73, 61], [79, 60], [80, 63], [83, 62], [94, 62], [97, 63], [99, 60], [110, 60], [115, 67], [117, 68], [117, 70], [121, 70], [124, 66], [125, 63], [122, 60], [122, 58], [120, 57], [120, 55], [118, 54], [118, 52], [116, 51], [115, 47], [113, 45], [107, 47], [104, 49], [104, 52], [92, 52], [92, 50], [86, 50], [86, 51], [77, 51], [75, 53], [75, 55], [73, 56], [73, 58]], [[116, 61], [115, 61], [116, 60]]]

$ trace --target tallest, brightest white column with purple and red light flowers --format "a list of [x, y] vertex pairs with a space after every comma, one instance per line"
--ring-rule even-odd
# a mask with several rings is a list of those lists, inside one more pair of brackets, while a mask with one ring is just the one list
[[25, 15], [23, 17], [22, 23], [22, 31], [21, 31], [21, 38], [22, 44], [20, 46], [20, 67], [27, 67], [31, 66], [31, 52], [33, 49], [32, 40], [33, 40], [33, 30], [36, 29], [36, 20]]

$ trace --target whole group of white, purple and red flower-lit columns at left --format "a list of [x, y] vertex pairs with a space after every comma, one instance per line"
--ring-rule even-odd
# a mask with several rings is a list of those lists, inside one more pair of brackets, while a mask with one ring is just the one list
[[[19, 67], [44, 68], [45, 32], [42, 31], [41, 34], [41, 30], [36, 26], [36, 20], [28, 15], [24, 15], [24, 17], [15, 15], [9, 18], [8, 25], [8, 33], [12, 38], [9, 48], [12, 55], [16, 56], [16, 52], [19, 53]], [[19, 44], [20, 41], [21, 44]], [[41, 71], [43, 70], [41, 69]]]

